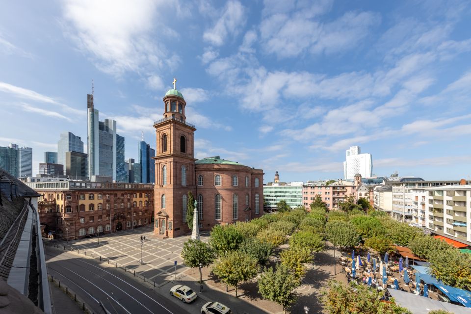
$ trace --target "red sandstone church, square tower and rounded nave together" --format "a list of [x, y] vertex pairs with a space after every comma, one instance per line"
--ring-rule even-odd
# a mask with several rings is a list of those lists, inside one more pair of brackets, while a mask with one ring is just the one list
[[164, 118], [156, 128], [154, 234], [175, 237], [190, 231], [185, 221], [188, 193], [198, 202], [200, 230], [260, 217], [263, 171], [210, 157], [194, 158], [195, 127], [186, 122], [186, 103], [177, 90], [163, 98]]

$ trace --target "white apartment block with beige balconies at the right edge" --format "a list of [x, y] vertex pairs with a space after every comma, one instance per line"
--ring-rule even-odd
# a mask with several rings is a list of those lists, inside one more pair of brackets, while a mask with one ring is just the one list
[[425, 188], [425, 227], [471, 245], [471, 185]]

